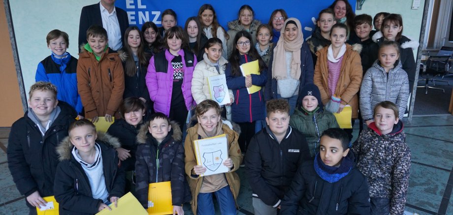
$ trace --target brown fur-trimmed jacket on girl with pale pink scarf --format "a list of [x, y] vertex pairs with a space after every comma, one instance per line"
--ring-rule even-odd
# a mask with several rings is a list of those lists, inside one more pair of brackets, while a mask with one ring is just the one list
[[[316, 55], [315, 74], [313, 82], [318, 86], [321, 92], [323, 104], [330, 100], [328, 86], [328, 67], [327, 67], [327, 49], [329, 46], [319, 50]], [[353, 110], [352, 118], [358, 117], [358, 90], [362, 83], [362, 64], [360, 61], [359, 47], [346, 44], [346, 53], [343, 55], [341, 63], [340, 79], [338, 80], [335, 94], [341, 97], [341, 104], [350, 105]]]

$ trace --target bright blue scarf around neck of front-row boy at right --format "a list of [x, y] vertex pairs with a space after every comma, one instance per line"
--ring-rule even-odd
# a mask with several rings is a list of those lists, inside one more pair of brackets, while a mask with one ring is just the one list
[[319, 177], [321, 177], [324, 181], [328, 183], [335, 183], [342, 179], [343, 177], [347, 176], [351, 171], [353, 165], [354, 155], [352, 155], [352, 152], [349, 152], [348, 156], [343, 158], [343, 160], [341, 161], [341, 165], [339, 167], [325, 165], [324, 162], [321, 160], [321, 156], [319, 153], [316, 154], [314, 162], [316, 173], [319, 175]]

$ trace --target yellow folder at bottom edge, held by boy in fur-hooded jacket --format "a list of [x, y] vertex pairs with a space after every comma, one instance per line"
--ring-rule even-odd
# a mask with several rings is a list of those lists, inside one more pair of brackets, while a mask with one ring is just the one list
[[109, 207], [112, 209], [111, 211], [104, 209], [96, 215], [148, 215], [140, 202], [130, 192], [118, 199], [117, 208], [115, 208], [115, 203], [110, 204]]

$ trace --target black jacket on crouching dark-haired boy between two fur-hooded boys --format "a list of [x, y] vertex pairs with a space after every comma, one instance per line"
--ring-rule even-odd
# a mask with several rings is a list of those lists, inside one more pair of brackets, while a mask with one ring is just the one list
[[[143, 121], [145, 121], [143, 119]], [[135, 152], [137, 151], [136, 137], [140, 126], [143, 123], [134, 127], [126, 122], [124, 119], [115, 120], [115, 122], [108, 128], [107, 134], [117, 137], [120, 140], [121, 148], [130, 150], [130, 157], [121, 161], [121, 168], [125, 171], [132, 171], [135, 169]]]

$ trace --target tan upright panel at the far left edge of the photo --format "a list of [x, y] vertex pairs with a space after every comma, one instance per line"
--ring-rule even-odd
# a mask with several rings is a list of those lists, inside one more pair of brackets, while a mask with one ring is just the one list
[[24, 115], [4, 5], [0, 6], [0, 127]]

